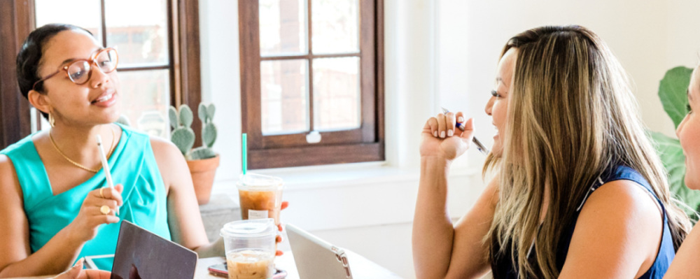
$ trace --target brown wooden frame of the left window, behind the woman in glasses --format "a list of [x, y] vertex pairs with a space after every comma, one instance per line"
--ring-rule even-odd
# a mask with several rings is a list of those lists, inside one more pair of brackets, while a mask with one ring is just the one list
[[[186, 103], [197, 115], [202, 100], [199, 0], [169, 0], [167, 8], [170, 103], [173, 106]], [[30, 105], [20, 93], [15, 60], [25, 38], [36, 28], [34, 0], [2, 0], [0, 15], [3, 15], [0, 17], [0, 149], [3, 149], [31, 133]], [[103, 34], [106, 37], [104, 29]], [[119, 71], [125, 70], [130, 69]], [[201, 123], [193, 122], [192, 129], [198, 134]], [[201, 144], [200, 136], [195, 138], [195, 145]]]

